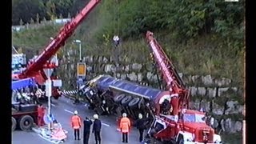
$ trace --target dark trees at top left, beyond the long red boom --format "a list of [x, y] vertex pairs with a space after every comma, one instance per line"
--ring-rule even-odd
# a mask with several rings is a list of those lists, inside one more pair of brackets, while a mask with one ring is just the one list
[[[68, 13], [77, 12], [81, 7], [74, 7], [75, 3], [85, 3], [82, 0], [12, 0], [12, 22], [13, 25], [18, 25], [19, 20], [27, 23], [30, 18], [38, 19], [46, 18], [47, 20], [57, 18], [62, 14], [67, 18]], [[84, 6], [84, 5], [82, 5]]]

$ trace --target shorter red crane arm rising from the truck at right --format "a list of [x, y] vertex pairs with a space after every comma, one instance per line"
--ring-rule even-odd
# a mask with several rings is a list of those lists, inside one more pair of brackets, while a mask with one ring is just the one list
[[170, 91], [173, 113], [174, 115], [178, 115], [179, 110], [189, 106], [189, 90], [186, 89], [174, 65], [170, 62], [170, 59], [167, 57], [162, 47], [153, 37], [153, 33], [147, 31], [146, 39], [152, 51], [151, 56], [153, 55], [154, 61], [158, 64], [158, 68], [166, 82], [166, 88]]

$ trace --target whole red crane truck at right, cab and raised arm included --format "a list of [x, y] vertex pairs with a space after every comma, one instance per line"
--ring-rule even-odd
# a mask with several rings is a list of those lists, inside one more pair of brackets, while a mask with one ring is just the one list
[[[157, 115], [148, 134], [168, 143], [221, 143], [220, 135], [214, 134], [214, 129], [206, 125], [206, 116], [203, 112], [187, 110], [190, 92], [162, 47], [154, 39], [153, 33], [147, 31], [146, 39], [152, 51], [151, 56], [158, 64], [167, 89], [166, 95], [160, 96], [155, 102]], [[159, 114], [161, 101], [165, 98], [169, 99], [173, 110], [170, 110], [170, 114]]]

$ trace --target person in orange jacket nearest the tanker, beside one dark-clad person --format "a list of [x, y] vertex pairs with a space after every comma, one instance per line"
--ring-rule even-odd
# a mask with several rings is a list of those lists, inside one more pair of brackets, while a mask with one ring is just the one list
[[128, 133], [130, 130], [130, 119], [123, 113], [120, 121], [120, 131], [122, 132], [122, 142], [128, 143]]

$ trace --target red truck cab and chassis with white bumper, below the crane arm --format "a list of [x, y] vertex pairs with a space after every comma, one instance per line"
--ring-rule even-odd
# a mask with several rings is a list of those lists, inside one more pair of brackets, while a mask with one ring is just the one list
[[214, 129], [206, 124], [205, 113], [198, 110], [182, 110], [178, 121], [174, 115], [160, 114], [156, 116], [148, 134], [167, 143], [222, 143], [220, 135], [214, 134]]

